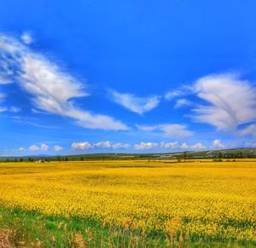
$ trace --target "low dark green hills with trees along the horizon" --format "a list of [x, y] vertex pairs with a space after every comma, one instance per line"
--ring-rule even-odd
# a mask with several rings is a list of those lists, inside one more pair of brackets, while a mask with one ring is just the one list
[[256, 158], [256, 148], [233, 148], [207, 151], [186, 151], [178, 153], [89, 153], [79, 155], [49, 156], [39, 154], [24, 157], [2, 157], [0, 161], [83, 161], [83, 160], [118, 160], [118, 159], [239, 159]]

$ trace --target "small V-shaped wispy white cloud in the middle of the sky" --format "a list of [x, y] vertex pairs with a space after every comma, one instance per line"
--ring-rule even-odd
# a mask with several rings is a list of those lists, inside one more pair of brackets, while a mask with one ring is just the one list
[[160, 96], [137, 97], [132, 94], [122, 94], [114, 90], [111, 90], [110, 93], [114, 102], [131, 112], [141, 115], [157, 107], [160, 103]]

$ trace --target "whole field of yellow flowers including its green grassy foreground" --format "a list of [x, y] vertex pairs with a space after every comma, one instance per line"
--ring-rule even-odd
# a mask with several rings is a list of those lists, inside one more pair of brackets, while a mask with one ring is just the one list
[[0, 163], [0, 230], [28, 247], [253, 247], [256, 160]]

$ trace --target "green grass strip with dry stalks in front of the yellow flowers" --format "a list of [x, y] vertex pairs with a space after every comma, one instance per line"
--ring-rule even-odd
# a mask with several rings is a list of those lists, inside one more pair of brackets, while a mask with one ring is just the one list
[[[207, 239], [178, 240], [162, 232], [102, 227], [96, 220], [45, 216], [37, 211], [9, 210], [0, 205], [0, 228], [16, 247], [255, 247], [253, 244], [217, 243]], [[166, 239], [166, 237], [169, 237]]]

